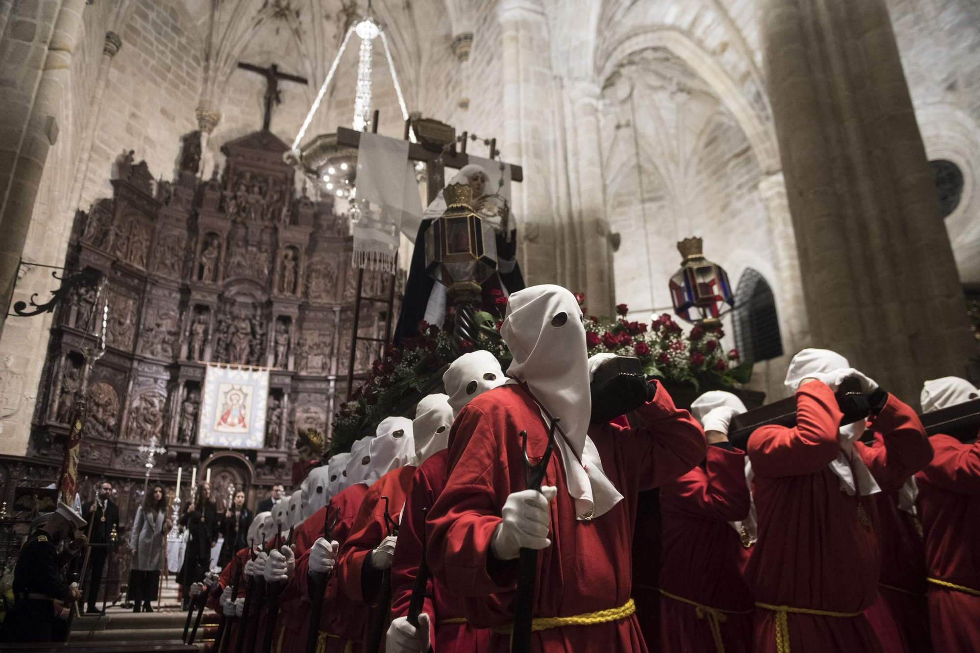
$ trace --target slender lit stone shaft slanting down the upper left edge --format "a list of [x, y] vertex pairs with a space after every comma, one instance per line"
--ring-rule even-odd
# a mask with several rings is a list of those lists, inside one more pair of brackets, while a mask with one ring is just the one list
[[[9, 187], [0, 214], [0, 303], [7, 305], [17, 276], [17, 267], [24, 252], [27, 229], [34, 211], [37, 187], [48, 158], [48, 148], [58, 138], [55, 116], [64, 101], [70, 83], [72, 55], [75, 42], [82, 34], [81, 13], [86, 0], [64, 0], [55, 21], [51, 40], [44, 57], [43, 71], [30, 107], [23, 139], [13, 161]], [[36, 4], [34, 5], [36, 8]], [[16, 27], [17, 25], [13, 25]], [[27, 64], [22, 64], [26, 66]], [[0, 166], [10, 170], [5, 166]], [[0, 317], [0, 335], [6, 322], [6, 312]]]

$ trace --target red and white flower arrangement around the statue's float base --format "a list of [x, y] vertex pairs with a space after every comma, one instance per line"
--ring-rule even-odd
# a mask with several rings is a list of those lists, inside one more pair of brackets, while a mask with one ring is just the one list
[[[500, 290], [492, 293], [497, 315], [476, 313], [479, 336], [475, 342], [464, 340], [459, 351], [453, 348], [452, 315], [441, 327], [419, 323], [418, 335], [405, 338], [400, 348], [389, 346], [384, 358], [371, 364], [368, 377], [351, 394], [351, 399], [340, 404], [334, 414], [333, 450], [346, 451], [354, 440], [367, 434], [368, 428], [392, 415], [406, 397], [421, 392], [444, 366], [462, 354], [475, 349], [489, 351], [507, 371], [512, 356], [500, 335], [500, 326], [508, 298]], [[575, 293], [575, 299], [579, 306], [584, 305], [585, 295]], [[619, 304], [614, 319], [584, 318], [589, 356], [600, 353], [634, 356], [640, 359], [648, 378], [661, 379], [668, 385], [686, 383], [695, 389], [732, 387], [752, 376], [751, 363], [740, 362], [734, 349], [724, 351], [721, 346], [724, 333], [720, 328], [695, 326], [685, 333], [665, 313], [649, 325], [627, 321], [628, 313], [628, 307]]]

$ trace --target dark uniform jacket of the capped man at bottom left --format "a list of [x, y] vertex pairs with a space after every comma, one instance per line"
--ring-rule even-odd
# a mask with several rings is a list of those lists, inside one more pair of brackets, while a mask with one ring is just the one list
[[14, 569], [14, 608], [4, 618], [0, 641], [63, 641], [68, 623], [55, 617], [55, 601], [70, 596], [51, 535], [42, 528], [30, 534]]

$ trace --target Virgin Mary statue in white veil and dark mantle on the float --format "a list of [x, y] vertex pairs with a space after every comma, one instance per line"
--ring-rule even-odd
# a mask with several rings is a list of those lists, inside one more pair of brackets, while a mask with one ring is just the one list
[[[520, 274], [517, 264], [517, 230], [514, 227], [513, 216], [508, 211], [508, 220], [493, 212], [496, 196], [487, 192], [486, 171], [476, 164], [464, 166], [449, 183], [468, 183], [472, 190], [472, 209], [486, 222], [494, 226], [497, 235], [497, 272], [483, 282], [482, 310], [498, 315], [495, 305], [497, 296], [503, 293], [508, 296], [512, 292], [524, 288], [524, 277]], [[402, 340], [418, 333], [418, 323], [425, 321], [430, 325], [442, 326], [446, 321], [446, 286], [436, 283], [435, 279], [425, 274], [425, 231], [432, 226], [432, 221], [438, 219], [446, 211], [446, 199], [442, 190], [422, 214], [421, 225], [418, 226], [416, 249], [412, 254], [412, 266], [409, 269], [409, 279], [405, 285], [405, 301], [402, 303], [402, 314], [395, 327], [394, 342], [401, 346]], [[498, 290], [500, 292], [494, 292]]]

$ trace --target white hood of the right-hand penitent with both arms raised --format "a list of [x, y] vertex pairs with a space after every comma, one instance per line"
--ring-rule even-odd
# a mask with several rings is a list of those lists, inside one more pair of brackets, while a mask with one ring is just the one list
[[[829, 349], [804, 349], [790, 361], [790, 369], [786, 372], [786, 388], [790, 392], [796, 392], [800, 387], [800, 381], [804, 378], [812, 377], [814, 374], [846, 370], [850, 367], [848, 359], [837, 352]], [[840, 478], [841, 490], [851, 496], [854, 496], [855, 492], [866, 496], [881, 491], [878, 482], [871, 476], [864, 461], [855, 451], [854, 442], [864, 432], [865, 426], [864, 420], [858, 420], [854, 424], [839, 427], [837, 441], [840, 443], [841, 450], [837, 454], [837, 459], [830, 464], [830, 471]]]

